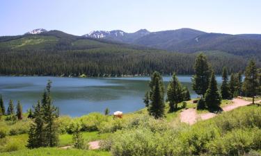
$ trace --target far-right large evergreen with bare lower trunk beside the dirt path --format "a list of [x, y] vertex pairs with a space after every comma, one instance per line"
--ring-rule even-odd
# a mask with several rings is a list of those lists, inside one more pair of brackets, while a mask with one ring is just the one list
[[252, 103], [255, 103], [255, 96], [259, 92], [258, 69], [255, 62], [251, 60], [246, 67], [243, 89], [246, 96], [252, 97]]

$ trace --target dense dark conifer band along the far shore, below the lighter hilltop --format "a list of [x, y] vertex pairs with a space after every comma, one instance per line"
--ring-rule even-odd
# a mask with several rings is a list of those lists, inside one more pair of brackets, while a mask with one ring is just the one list
[[[243, 71], [247, 61], [235, 55], [208, 55], [216, 73]], [[193, 74], [196, 54], [120, 48], [46, 51], [0, 51], [1, 75], [28, 76], [122, 76]], [[260, 66], [260, 63], [258, 64]]]

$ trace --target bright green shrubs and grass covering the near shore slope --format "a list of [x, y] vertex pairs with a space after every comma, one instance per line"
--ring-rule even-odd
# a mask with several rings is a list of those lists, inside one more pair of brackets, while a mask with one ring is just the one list
[[[221, 107], [232, 104], [232, 101], [222, 101]], [[196, 104], [187, 102], [187, 108], [196, 107]], [[4, 116], [0, 124], [1, 128], [8, 128], [6, 137], [0, 139], [1, 156], [6, 155], [235, 155], [235, 150], [242, 153], [250, 153], [251, 150], [260, 150], [261, 146], [261, 107], [249, 105], [239, 107], [231, 112], [222, 114], [207, 121], [198, 121], [190, 126], [180, 123], [179, 116], [182, 110], [187, 109], [179, 104], [180, 110], [168, 112], [166, 103], [166, 116], [163, 120], [156, 120], [148, 116], [147, 108], [124, 114], [122, 119], [114, 119], [113, 116], [91, 113], [79, 118], [61, 116], [61, 134], [57, 148], [38, 148], [29, 150], [26, 148], [28, 135], [22, 125], [29, 122], [8, 121]], [[207, 110], [198, 111], [198, 113]], [[70, 124], [74, 121], [81, 122], [82, 134], [86, 144], [89, 141], [105, 141], [104, 150], [77, 150], [61, 149], [59, 147], [72, 146]], [[26, 125], [28, 127], [28, 125]], [[11, 135], [10, 129], [14, 131]], [[22, 132], [22, 134], [20, 134]], [[260, 136], [259, 136], [260, 134]], [[150, 145], [150, 146], [148, 146]], [[233, 146], [235, 145], [235, 146]], [[178, 149], [178, 150], [177, 150]], [[251, 150], [250, 150], [251, 149]], [[155, 154], [154, 154], [155, 153]], [[172, 154], [169, 154], [172, 153]], [[254, 152], [256, 153], [256, 152]]]

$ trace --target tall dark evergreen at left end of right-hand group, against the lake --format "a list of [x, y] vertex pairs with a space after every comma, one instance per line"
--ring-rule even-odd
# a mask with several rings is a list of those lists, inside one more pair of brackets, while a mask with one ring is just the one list
[[150, 106], [148, 107], [148, 112], [150, 115], [154, 116], [156, 119], [159, 119], [164, 116], [164, 91], [160, 85], [159, 78], [155, 78], [154, 86], [150, 96]]

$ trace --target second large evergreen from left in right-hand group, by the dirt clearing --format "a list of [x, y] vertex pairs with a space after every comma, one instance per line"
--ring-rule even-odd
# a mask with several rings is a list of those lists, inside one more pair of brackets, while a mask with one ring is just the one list
[[177, 80], [177, 76], [173, 73], [171, 82], [168, 83], [167, 96], [170, 106], [170, 112], [177, 110], [177, 103], [184, 100], [183, 87]]

